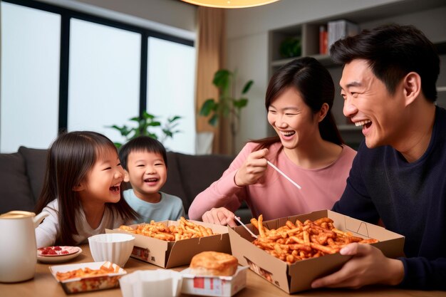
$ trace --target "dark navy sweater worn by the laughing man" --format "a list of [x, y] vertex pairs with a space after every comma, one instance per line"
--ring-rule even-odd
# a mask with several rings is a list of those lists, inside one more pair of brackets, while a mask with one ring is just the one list
[[405, 236], [400, 286], [446, 290], [446, 110], [436, 108], [429, 147], [408, 163], [393, 147], [361, 143], [333, 211]]

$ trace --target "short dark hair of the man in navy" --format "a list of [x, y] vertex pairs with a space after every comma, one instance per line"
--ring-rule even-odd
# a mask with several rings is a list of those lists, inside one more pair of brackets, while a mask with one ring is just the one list
[[410, 72], [420, 75], [421, 89], [427, 100], [437, 99], [440, 58], [435, 46], [415, 26], [388, 24], [346, 37], [330, 47], [331, 59], [345, 65], [355, 59], [368, 61], [373, 74], [390, 94]]

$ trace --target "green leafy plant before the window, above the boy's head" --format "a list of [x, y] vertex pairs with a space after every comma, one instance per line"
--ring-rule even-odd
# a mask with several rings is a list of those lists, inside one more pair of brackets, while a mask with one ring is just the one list
[[[160, 142], [163, 143], [168, 137], [172, 138], [173, 135], [181, 132], [180, 130], [175, 130], [178, 125], [178, 120], [180, 119], [181, 117], [179, 115], [175, 115], [172, 118], [167, 118], [167, 122], [162, 124], [157, 120], [157, 116], [151, 115], [144, 110], [141, 117], [130, 118], [130, 121], [137, 123], [136, 127], [128, 127], [127, 125], [112, 125], [107, 127], [118, 130], [120, 135], [125, 137], [126, 141], [132, 140], [140, 135], [146, 135], [155, 138], [156, 140], [160, 140]], [[158, 133], [161, 132], [161, 134], [154, 132], [154, 129], [160, 130]], [[115, 142], [115, 146], [118, 148], [122, 145], [123, 144], [120, 142]]]

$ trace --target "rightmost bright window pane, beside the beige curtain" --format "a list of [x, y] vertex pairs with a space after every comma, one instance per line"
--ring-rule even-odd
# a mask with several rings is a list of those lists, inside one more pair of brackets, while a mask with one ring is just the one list
[[168, 150], [195, 154], [195, 48], [149, 37], [147, 59], [147, 110], [162, 122], [180, 115]]

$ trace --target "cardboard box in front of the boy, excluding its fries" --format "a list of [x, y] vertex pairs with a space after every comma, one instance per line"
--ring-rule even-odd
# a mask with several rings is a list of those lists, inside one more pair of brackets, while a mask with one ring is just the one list
[[[229, 243], [227, 226], [207, 224], [193, 220], [188, 221], [210, 228], [217, 234], [179, 241], [164, 241], [150, 236], [134, 234], [122, 229], [105, 229], [105, 233], [132, 234], [135, 236], [135, 244], [131, 256], [162, 268], [172, 268], [190, 264], [192, 257], [202, 251], [220, 251], [222, 253], [231, 254], [231, 244]], [[166, 226], [176, 226], [179, 223], [178, 221], [161, 222]], [[135, 228], [138, 224], [130, 226]]]

